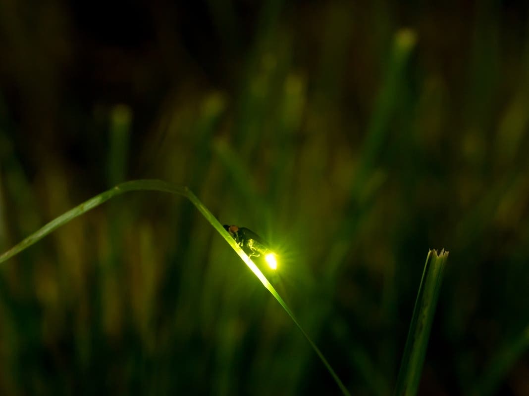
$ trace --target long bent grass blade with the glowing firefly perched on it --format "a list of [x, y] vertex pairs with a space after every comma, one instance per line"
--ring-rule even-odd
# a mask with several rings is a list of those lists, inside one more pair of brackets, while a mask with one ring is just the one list
[[308, 343], [311, 344], [313, 350], [316, 352], [318, 357], [320, 357], [326, 369], [329, 370], [329, 372], [331, 373], [332, 377], [334, 378], [334, 380], [340, 387], [343, 394], [349, 396], [349, 391], [345, 388], [344, 384], [342, 383], [338, 375], [336, 375], [336, 373], [334, 372], [329, 362], [327, 362], [327, 360], [325, 359], [325, 356], [323, 356], [322, 352], [319, 350], [316, 344], [314, 344], [314, 342], [311, 340], [308, 334], [305, 333], [303, 327], [299, 324], [293, 312], [290, 310], [290, 308], [285, 303], [285, 301], [281, 298], [281, 296], [277, 293], [276, 289], [273, 288], [273, 286], [270, 284], [266, 276], [255, 265], [255, 263], [247, 256], [247, 254], [244, 253], [244, 251], [240, 248], [240, 246], [235, 242], [235, 240], [230, 236], [230, 234], [224, 229], [222, 224], [218, 222], [215, 216], [211, 212], [209, 212], [206, 206], [204, 206], [204, 204], [200, 202], [200, 200], [196, 197], [196, 195], [193, 194], [193, 192], [191, 192], [189, 188], [187, 187], [176, 186], [174, 184], [170, 184], [170, 183], [167, 183], [161, 180], [133, 180], [130, 182], [118, 184], [115, 187], [111, 188], [110, 190], [107, 190], [101, 194], [96, 195], [95, 197], [89, 199], [88, 201], [81, 203], [80, 205], [76, 206], [74, 209], [71, 209], [68, 212], [63, 213], [58, 218], [44, 225], [44, 227], [42, 227], [40, 230], [38, 230], [37, 232], [34, 232], [28, 238], [25, 238], [20, 243], [16, 244], [13, 248], [3, 253], [0, 256], [0, 263], [12, 258], [16, 254], [20, 253], [22, 250], [29, 248], [32, 244], [40, 241], [42, 238], [44, 238], [46, 235], [51, 233], [53, 230], [56, 230], [57, 228], [61, 227], [61, 225], [64, 225], [68, 223], [70, 220], [75, 219], [77, 216], [80, 216], [81, 214], [88, 212], [90, 209], [94, 209], [96, 206], [101, 205], [102, 203], [110, 200], [111, 198], [117, 195], [121, 195], [129, 191], [163, 191], [163, 192], [185, 196], [189, 201], [191, 201], [191, 203], [193, 203], [193, 205], [196, 206], [198, 211], [202, 213], [202, 215], [206, 218], [209, 224], [211, 224], [213, 228], [217, 230], [219, 234], [222, 235], [222, 237], [226, 240], [226, 242], [230, 244], [232, 249], [235, 250], [237, 254], [239, 254], [239, 257], [242, 259], [242, 261], [244, 261], [244, 263], [252, 270], [253, 274], [257, 276], [257, 278], [261, 281], [263, 286], [265, 286], [268, 289], [268, 291], [270, 291], [272, 296], [279, 302], [281, 307], [285, 309], [288, 316], [290, 316], [290, 318], [293, 320], [293, 322], [296, 324], [296, 326], [305, 336]]

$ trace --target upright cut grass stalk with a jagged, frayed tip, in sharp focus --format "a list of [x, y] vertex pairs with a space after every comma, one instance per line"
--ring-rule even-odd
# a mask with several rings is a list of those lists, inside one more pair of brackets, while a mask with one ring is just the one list
[[437, 251], [430, 250], [426, 257], [395, 386], [395, 396], [415, 396], [417, 394], [447, 258], [448, 251], [444, 250], [439, 255]]

